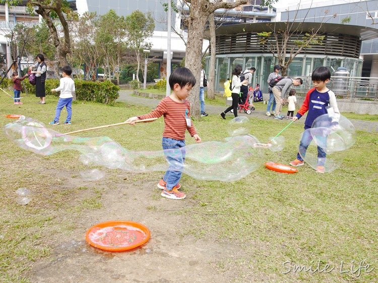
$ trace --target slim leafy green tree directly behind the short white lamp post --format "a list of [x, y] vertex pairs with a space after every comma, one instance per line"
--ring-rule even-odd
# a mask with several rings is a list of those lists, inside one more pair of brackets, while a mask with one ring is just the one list
[[151, 49], [151, 43], [146, 39], [152, 36], [155, 29], [154, 19], [150, 13], [146, 15], [139, 10], [126, 17], [126, 31], [129, 48], [132, 49], [137, 59], [137, 80], [139, 81], [139, 69], [143, 49]]

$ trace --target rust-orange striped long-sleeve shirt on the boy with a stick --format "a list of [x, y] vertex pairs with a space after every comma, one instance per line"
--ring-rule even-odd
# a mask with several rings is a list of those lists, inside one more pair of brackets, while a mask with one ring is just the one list
[[155, 110], [151, 113], [138, 116], [139, 119], [159, 118], [164, 116], [163, 137], [170, 137], [178, 140], [185, 139], [185, 130], [187, 129], [191, 136], [197, 134], [193, 123], [189, 127], [186, 125], [186, 119], [191, 116], [191, 104], [189, 101], [173, 101], [169, 96], [163, 98]]

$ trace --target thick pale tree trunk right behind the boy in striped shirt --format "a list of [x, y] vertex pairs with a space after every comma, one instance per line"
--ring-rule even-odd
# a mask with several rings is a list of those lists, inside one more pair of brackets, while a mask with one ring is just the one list
[[188, 19], [188, 36], [186, 43], [185, 67], [190, 69], [196, 77], [197, 84], [192, 89], [188, 100], [191, 103], [191, 115], [200, 118], [200, 80], [201, 80], [201, 59], [202, 44], [205, 31], [205, 25], [208, 15], [205, 14], [201, 7], [191, 9], [190, 18]]

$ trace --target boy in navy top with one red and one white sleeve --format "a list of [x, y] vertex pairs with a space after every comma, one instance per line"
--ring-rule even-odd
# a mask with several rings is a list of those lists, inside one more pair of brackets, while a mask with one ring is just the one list
[[[327, 88], [327, 84], [331, 79], [331, 72], [327, 67], [318, 67], [313, 70], [312, 84], [314, 88], [310, 89], [303, 101], [302, 106], [298, 110], [297, 114], [293, 117], [293, 121], [298, 120], [300, 117], [307, 113], [306, 120], [304, 121], [304, 129], [302, 138], [299, 144], [299, 151], [305, 153], [309, 145], [309, 141], [312, 140], [310, 132], [306, 129], [311, 128], [313, 121], [321, 115], [332, 114], [332, 124], [338, 124], [340, 118], [339, 108], [336, 103], [335, 93]], [[330, 110], [333, 109], [333, 110]], [[324, 173], [324, 164], [326, 162], [326, 153], [318, 146], [318, 164], [317, 172]], [[290, 162], [291, 166], [303, 165], [303, 159], [297, 154], [297, 158]]]

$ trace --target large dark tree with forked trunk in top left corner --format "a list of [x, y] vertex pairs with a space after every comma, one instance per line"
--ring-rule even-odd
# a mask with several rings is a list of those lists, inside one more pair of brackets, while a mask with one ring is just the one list
[[[21, 4], [21, 0], [0, 0], [0, 3], [8, 2], [11, 6]], [[56, 47], [58, 66], [67, 65], [67, 54], [71, 53], [71, 38], [67, 19], [77, 19], [78, 14], [70, 8], [67, 0], [27, 0], [27, 7], [30, 14], [35, 13], [42, 16], [50, 32], [52, 42]], [[66, 19], [67, 18], [67, 19]], [[56, 30], [56, 22], [59, 20], [64, 37], [60, 38]]]

